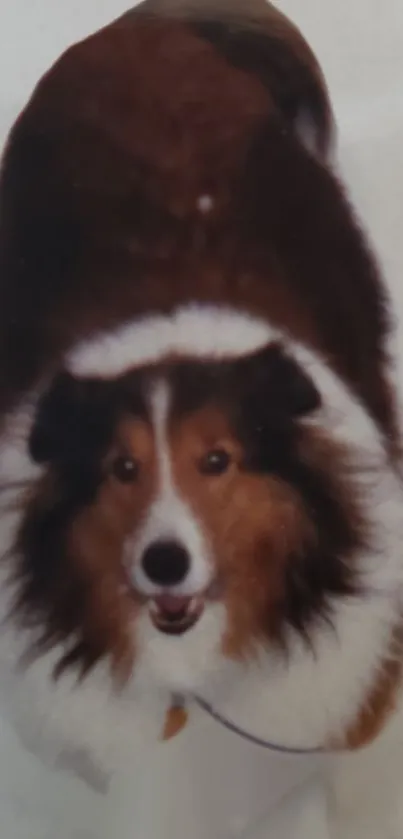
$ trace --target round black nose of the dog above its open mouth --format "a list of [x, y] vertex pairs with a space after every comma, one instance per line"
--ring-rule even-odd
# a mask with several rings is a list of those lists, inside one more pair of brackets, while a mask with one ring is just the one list
[[153, 542], [142, 558], [143, 571], [159, 586], [175, 586], [186, 577], [190, 557], [186, 548], [178, 542]]

